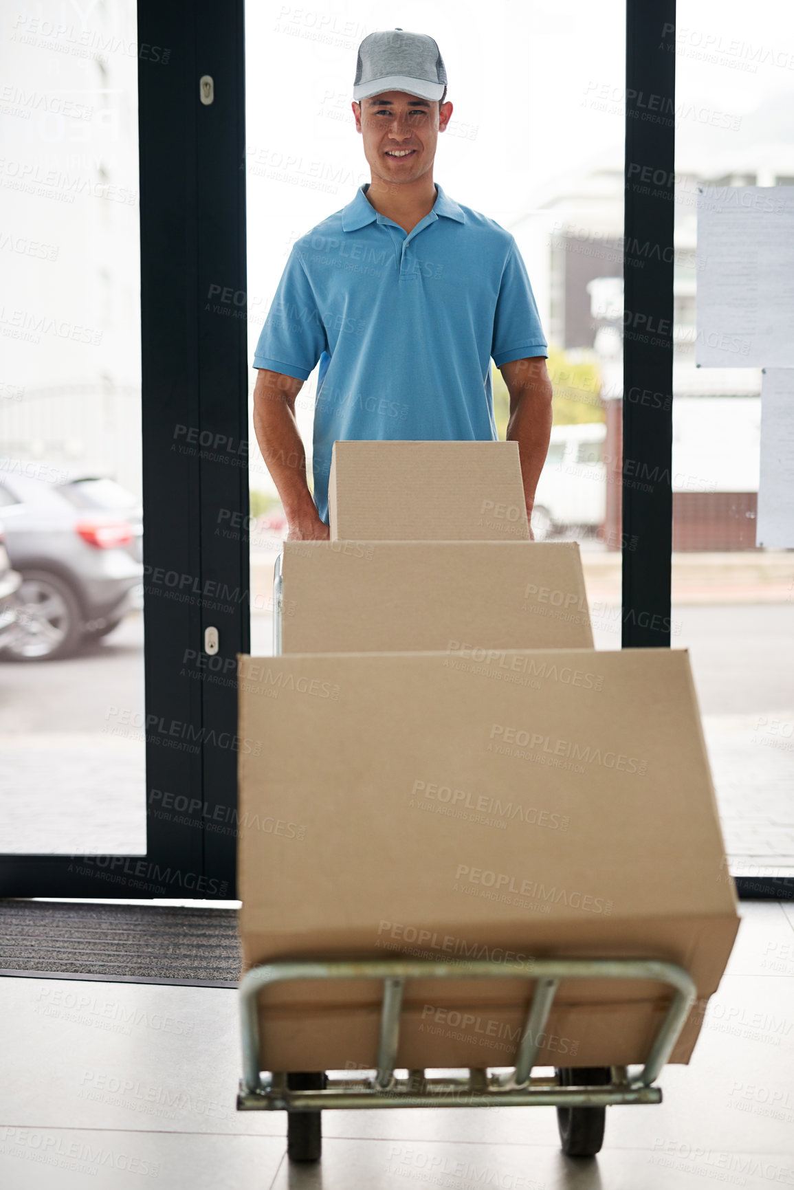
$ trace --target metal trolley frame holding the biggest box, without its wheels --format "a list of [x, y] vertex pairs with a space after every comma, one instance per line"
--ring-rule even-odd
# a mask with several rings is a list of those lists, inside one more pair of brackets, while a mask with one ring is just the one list
[[[400, 1040], [400, 1010], [407, 979], [505, 979], [523, 977], [536, 984], [525, 1027], [508, 1075], [470, 1069], [467, 1078], [426, 1078], [412, 1070], [395, 1078]], [[260, 1046], [258, 994], [276, 983], [295, 979], [381, 979], [380, 1041], [375, 1077], [339, 1081], [344, 1089], [292, 1090], [286, 1072], [262, 1078], [267, 1056]], [[673, 998], [639, 1073], [612, 1067], [612, 1082], [601, 1086], [561, 1088], [550, 1078], [532, 1078], [542, 1048], [540, 1036], [563, 979], [651, 979], [673, 989]], [[436, 959], [371, 959], [268, 963], [248, 971], [239, 987], [243, 1038], [243, 1078], [237, 1098], [240, 1111], [318, 1111], [330, 1108], [429, 1107], [602, 1107], [611, 1103], [659, 1103], [662, 1091], [651, 1084], [670, 1057], [695, 1000], [692, 977], [674, 963], [656, 959], [536, 959], [520, 963]]]

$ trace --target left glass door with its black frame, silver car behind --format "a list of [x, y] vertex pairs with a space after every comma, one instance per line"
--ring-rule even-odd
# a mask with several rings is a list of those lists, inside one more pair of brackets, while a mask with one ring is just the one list
[[43, 4], [0, 54], [0, 895], [229, 898], [242, 11]]

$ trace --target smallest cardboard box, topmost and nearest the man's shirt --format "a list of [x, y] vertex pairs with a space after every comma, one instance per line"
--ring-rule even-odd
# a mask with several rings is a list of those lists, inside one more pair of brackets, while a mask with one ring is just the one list
[[332, 541], [526, 541], [518, 443], [336, 441]]

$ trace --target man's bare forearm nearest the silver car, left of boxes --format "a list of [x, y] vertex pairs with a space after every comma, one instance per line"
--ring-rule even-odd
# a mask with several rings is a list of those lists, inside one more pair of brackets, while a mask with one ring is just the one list
[[260, 370], [254, 390], [254, 432], [290, 526], [319, 521], [306, 480], [306, 449], [295, 418], [301, 381]]

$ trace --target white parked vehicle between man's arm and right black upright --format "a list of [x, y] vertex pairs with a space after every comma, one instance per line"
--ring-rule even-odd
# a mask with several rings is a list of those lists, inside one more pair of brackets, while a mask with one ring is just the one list
[[570, 530], [593, 532], [604, 524], [605, 439], [602, 421], [552, 427], [549, 453], [534, 494], [532, 532], [536, 541]]

